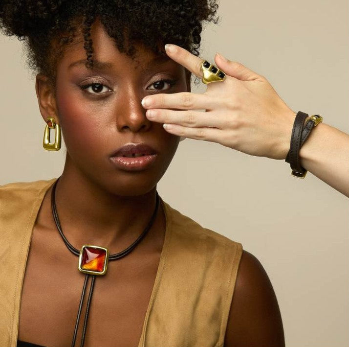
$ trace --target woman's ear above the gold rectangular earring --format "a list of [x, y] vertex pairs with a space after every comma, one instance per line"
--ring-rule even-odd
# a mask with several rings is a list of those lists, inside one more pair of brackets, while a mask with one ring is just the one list
[[42, 73], [36, 75], [35, 91], [38, 97], [40, 113], [45, 123], [47, 118], [51, 117], [59, 124], [54, 86], [50, 79]]

